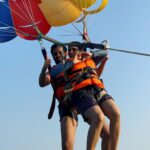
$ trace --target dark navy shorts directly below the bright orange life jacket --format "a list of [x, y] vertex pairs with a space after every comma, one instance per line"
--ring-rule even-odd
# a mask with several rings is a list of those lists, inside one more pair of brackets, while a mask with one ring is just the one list
[[93, 95], [93, 86], [87, 86], [72, 93], [71, 106], [78, 113], [83, 115], [87, 109], [95, 105], [98, 105], [98, 103]]

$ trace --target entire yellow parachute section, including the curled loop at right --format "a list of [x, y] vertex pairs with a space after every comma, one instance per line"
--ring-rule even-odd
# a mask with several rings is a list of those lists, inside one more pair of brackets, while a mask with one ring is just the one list
[[101, 1], [101, 5], [92, 11], [87, 11], [86, 8], [96, 0], [41, 0], [39, 7], [51, 26], [62, 26], [75, 21], [82, 13], [88, 15], [101, 11], [108, 0]]

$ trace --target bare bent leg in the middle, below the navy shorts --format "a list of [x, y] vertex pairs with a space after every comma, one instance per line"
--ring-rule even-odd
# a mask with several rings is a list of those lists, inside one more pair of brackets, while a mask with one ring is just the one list
[[103, 127], [104, 115], [99, 106], [89, 108], [84, 115], [91, 122], [87, 137], [87, 150], [95, 150]]

